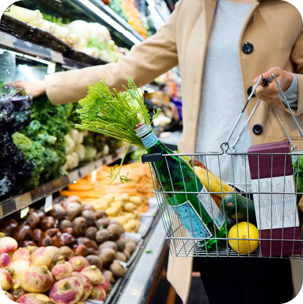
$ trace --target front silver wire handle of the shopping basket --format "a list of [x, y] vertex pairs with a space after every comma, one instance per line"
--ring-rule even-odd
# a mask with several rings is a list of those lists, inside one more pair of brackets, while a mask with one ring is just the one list
[[[295, 124], [296, 124], [296, 126], [297, 126], [297, 128], [298, 128], [298, 130], [299, 130], [299, 132], [300, 132], [300, 134], [301, 134], [301, 137], [302, 137], [302, 139], [303, 139], [303, 132], [302, 132], [302, 130], [301, 130], [301, 128], [300, 128], [300, 126], [299, 126], [299, 124], [298, 124], [298, 122], [297, 122], [297, 120], [296, 120], [294, 114], [293, 114], [292, 111], [291, 111], [291, 108], [290, 108], [290, 106], [289, 106], [289, 104], [288, 104], [288, 101], [287, 101], [287, 99], [286, 99], [286, 97], [285, 97], [285, 95], [284, 95], [284, 93], [283, 93], [283, 91], [282, 91], [282, 89], [281, 89], [281, 87], [280, 87], [280, 85], [279, 85], [279, 83], [278, 83], [278, 81], [277, 81], [275, 75], [274, 75], [274, 74], [271, 74], [271, 78], [268, 78], [268, 77], [267, 77], [267, 79], [263, 79], [263, 75], [261, 75], [261, 76], [259, 77], [259, 79], [258, 79], [256, 85], [254, 86], [253, 90], [251, 91], [251, 93], [250, 93], [250, 95], [249, 95], [249, 97], [248, 97], [248, 99], [247, 99], [247, 101], [246, 101], [246, 103], [245, 103], [245, 105], [244, 105], [244, 107], [243, 107], [243, 109], [242, 109], [242, 111], [241, 111], [241, 113], [240, 113], [240, 115], [239, 115], [237, 121], [235, 122], [235, 124], [234, 124], [234, 126], [233, 126], [233, 128], [232, 128], [232, 130], [231, 130], [231, 132], [230, 132], [230, 134], [228, 135], [228, 138], [226, 139], [226, 141], [224, 141], [224, 142], [221, 143], [221, 145], [220, 145], [220, 148], [221, 148], [221, 150], [222, 150], [223, 153], [227, 153], [227, 151], [228, 151], [228, 149], [229, 149], [229, 144], [228, 144], [228, 142], [229, 142], [229, 140], [230, 140], [230, 138], [231, 138], [231, 136], [232, 136], [234, 130], [236, 129], [236, 127], [237, 127], [237, 125], [238, 125], [238, 123], [239, 123], [239, 121], [240, 121], [240, 119], [241, 119], [241, 117], [242, 117], [242, 115], [243, 115], [243, 113], [244, 113], [246, 107], [247, 107], [247, 104], [248, 104], [249, 100], [251, 99], [252, 95], [254, 94], [255, 90], [257, 89], [258, 85], [261, 83], [262, 86], [265, 86], [267, 82], [268, 82], [268, 83], [271, 83], [272, 79], [274, 79], [275, 83], [277, 84], [278, 89], [279, 89], [279, 91], [280, 91], [280, 93], [281, 93], [281, 95], [282, 95], [282, 97], [283, 97], [283, 99], [284, 99], [284, 101], [285, 101], [285, 104], [286, 104], [286, 106], [287, 106], [287, 108], [288, 108], [288, 110], [289, 110], [289, 112], [290, 112], [290, 115], [292, 116], [292, 118], [293, 118], [293, 120], [294, 120], [294, 122], [295, 122]], [[276, 112], [276, 111], [275, 111], [275, 112]], [[284, 129], [285, 129], [285, 128], [284, 128]], [[287, 132], [286, 132], [286, 133], [287, 133]], [[224, 150], [223, 146], [226, 147], [225, 150]]]

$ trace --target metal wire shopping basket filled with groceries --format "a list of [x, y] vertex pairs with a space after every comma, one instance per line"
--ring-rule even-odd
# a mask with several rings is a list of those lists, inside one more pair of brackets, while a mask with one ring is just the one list
[[[297, 207], [297, 202], [303, 194], [303, 190], [300, 188], [301, 179], [303, 179], [303, 173], [300, 176], [300, 169], [303, 172], [303, 151], [297, 151], [297, 148], [293, 146], [274, 106], [271, 104], [288, 137], [291, 153], [289, 153], [288, 142], [286, 142], [287, 150], [285, 150], [285, 142], [281, 142], [282, 145], [284, 143], [284, 150], [281, 153], [273, 153], [271, 150], [268, 150], [269, 152], [249, 152], [248, 150], [248, 153], [235, 153], [234, 146], [244, 129], [233, 145], [229, 146], [228, 143], [257, 86], [259, 84], [266, 85], [272, 79], [277, 84], [303, 138], [303, 133], [285, 95], [272, 74], [271, 79], [267, 78], [266, 80], [260, 76], [230, 135], [221, 144], [220, 153], [143, 155], [142, 161], [150, 164], [154, 193], [158, 200], [166, 230], [166, 239], [172, 255], [303, 259], [301, 218], [299, 216], [302, 213], [298, 213]], [[244, 128], [259, 102], [260, 100], [248, 117]], [[195, 166], [192, 166], [191, 171], [193, 171], [196, 187], [188, 186], [189, 171], [186, 171], [186, 166], [183, 165], [185, 158], [191, 164], [195, 164], [198, 160], [205, 166], [203, 185], [206, 190], [204, 188], [201, 190], [198, 187], [202, 180], [200, 181], [201, 178], [197, 170], [201, 169]], [[175, 163], [177, 162], [176, 167], [179, 167], [179, 174], [176, 174], [176, 171], [172, 172], [172, 167], [169, 166], [172, 159]], [[166, 168], [166, 176], [164, 177], [160, 176], [163, 174], [159, 171], [160, 162], [161, 166]], [[212, 189], [214, 178], [219, 181], [219, 190], [215, 191]], [[169, 181], [170, 185], [165, 186], [163, 180]], [[181, 181], [183, 186], [177, 185], [176, 180]], [[230, 187], [226, 188], [227, 186], [224, 186], [226, 184]], [[299, 189], [301, 192], [298, 191]], [[181, 204], [180, 201], [178, 202], [180, 196], [184, 199]], [[215, 200], [219, 198], [223, 203], [215, 203], [213, 198]], [[197, 204], [194, 205], [191, 202], [192, 200], [199, 202], [198, 208]], [[253, 203], [251, 203], [252, 201]], [[232, 216], [230, 216], [228, 209], [230, 206], [233, 208]], [[218, 207], [221, 207], [221, 211]], [[256, 228], [252, 230], [250, 223], [257, 227], [256, 234]], [[229, 233], [231, 229], [233, 229], [232, 237]], [[245, 232], [243, 236], [242, 231], [245, 230], [247, 235]], [[247, 252], [241, 250], [243, 244], [244, 249], [248, 247]], [[256, 245], [256, 249], [252, 248]]]

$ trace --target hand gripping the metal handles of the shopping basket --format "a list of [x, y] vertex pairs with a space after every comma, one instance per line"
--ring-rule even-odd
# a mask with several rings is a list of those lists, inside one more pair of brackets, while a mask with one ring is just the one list
[[[282, 91], [285, 92], [289, 88], [293, 80], [293, 76], [291, 75], [291, 73], [284, 71], [280, 68], [271, 68], [267, 72], [262, 74], [263, 78], [270, 78], [272, 73], [275, 75]], [[257, 76], [253, 80], [255, 84], [257, 83], [260, 76], [261, 75]], [[265, 87], [262, 87], [261, 84], [259, 84], [254, 94], [257, 96], [257, 98], [263, 100], [265, 103], [271, 103], [278, 99], [280, 90], [276, 85], [275, 81], [272, 80], [272, 82]]]

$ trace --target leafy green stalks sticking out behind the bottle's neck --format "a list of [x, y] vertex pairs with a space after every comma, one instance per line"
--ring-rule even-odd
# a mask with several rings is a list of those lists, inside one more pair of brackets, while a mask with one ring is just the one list
[[[81, 124], [75, 124], [78, 129], [98, 132], [113, 138], [129, 143], [127, 150], [121, 161], [118, 173], [114, 173], [115, 166], [109, 177], [111, 183], [120, 176], [120, 170], [125, 156], [131, 144], [144, 148], [142, 141], [136, 136], [134, 127], [140, 123], [138, 115], [141, 115], [146, 124], [150, 125], [152, 119], [144, 105], [143, 96], [138, 91], [134, 81], [127, 79], [128, 88], [124, 87], [125, 92], [118, 93], [115, 89], [112, 93], [105, 85], [105, 79], [95, 86], [90, 85], [88, 95], [79, 101], [81, 106], [76, 112], [80, 114]], [[136, 106], [133, 105], [136, 102]], [[154, 112], [153, 119], [160, 115], [161, 109]], [[131, 182], [126, 176], [120, 176], [122, 183]]]

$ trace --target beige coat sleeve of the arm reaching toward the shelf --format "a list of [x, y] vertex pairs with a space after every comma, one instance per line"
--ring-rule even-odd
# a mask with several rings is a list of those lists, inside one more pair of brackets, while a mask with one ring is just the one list
[[88, 85], [104, 78], [110, 89], [115, 88], [119, 92], [123, 90], [123, 84], [127, 85], [127, 77], [137, 85], [145, 85], [177, 66], [175, 29], [181, 3], [182, 0], [167, 24], [140, 45], [133, 46], [130, 54], [121, 57], [117, 63], [47, 75], [46, 93], [52, 104], [77, 102], [86, 96]]

